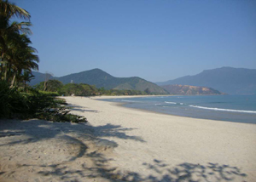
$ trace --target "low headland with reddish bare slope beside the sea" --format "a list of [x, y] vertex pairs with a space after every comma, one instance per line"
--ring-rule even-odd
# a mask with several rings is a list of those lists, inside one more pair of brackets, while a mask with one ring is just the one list
[[161, 87], [170, 94], [223, 94], [213, 88], [196, 87], [189, 85], [163, 85]]

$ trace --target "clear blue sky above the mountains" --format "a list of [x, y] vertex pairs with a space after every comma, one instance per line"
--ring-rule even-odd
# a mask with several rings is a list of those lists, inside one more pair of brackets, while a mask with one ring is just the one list
[[100, 68], [166, 81], [222, 66], [256, 69], [255, 0], [13, 0], [32, 15], [39, 71]]

